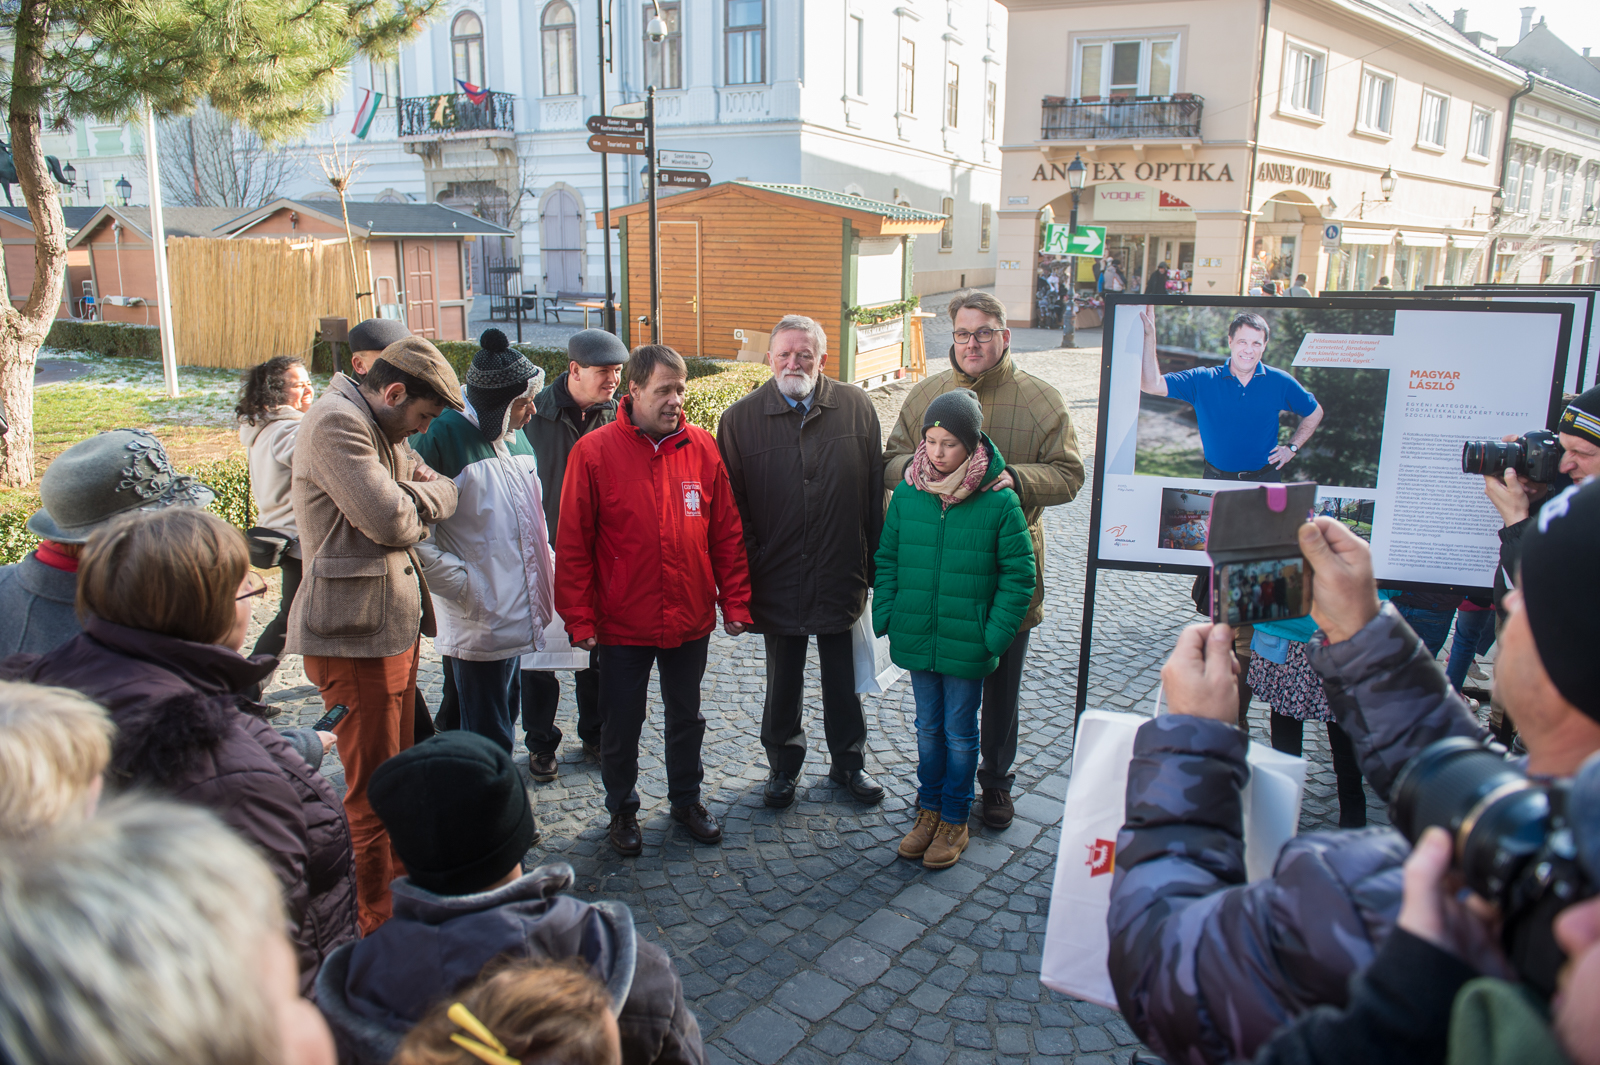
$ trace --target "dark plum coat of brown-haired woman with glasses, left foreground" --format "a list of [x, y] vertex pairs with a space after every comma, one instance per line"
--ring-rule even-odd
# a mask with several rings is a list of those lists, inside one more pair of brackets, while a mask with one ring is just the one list
[[[277, 665], [90, 617], [48, 654], [13, 654], [0, 676], [72, 688], [117, 724], [109, 782], [205, 806], [256, 844], [277, 873], [299, 955], [301, 991], [355, 939], [355, 864], [344, 806], [304, 755], [238, 696]], [[294, 740], [306, 740], [302, 729]], [[315, 732], [315, 756], [322, 744]]]

